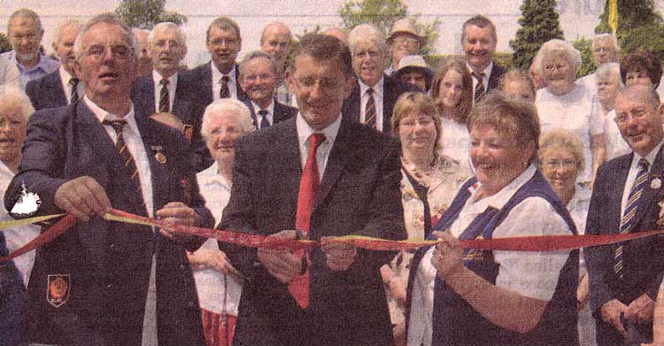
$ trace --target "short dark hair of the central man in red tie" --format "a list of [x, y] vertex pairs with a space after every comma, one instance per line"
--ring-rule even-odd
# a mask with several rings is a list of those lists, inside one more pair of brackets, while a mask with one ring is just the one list
[[307, 34], [297, 43], [293, 60], [290, 64], [290, 72], [295, 73], [295, 60], [297, 57], [308, 55], [314, 60], [329, 61], [337, 60], [344, 71], [345, 77], [353, 75], [351, 50], [336, 37], [329, 35]]

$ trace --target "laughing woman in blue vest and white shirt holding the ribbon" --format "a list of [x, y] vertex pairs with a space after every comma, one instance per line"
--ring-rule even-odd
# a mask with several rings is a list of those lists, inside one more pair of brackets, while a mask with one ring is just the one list
[[576, 234], [537, 170], [537, 111], [490, 95], [467, 124], [475, 177], [434, 227], [443, 242], [415, 255], [408, 345], [577, 345], [578, 251], [459, 246], [478, 238]]

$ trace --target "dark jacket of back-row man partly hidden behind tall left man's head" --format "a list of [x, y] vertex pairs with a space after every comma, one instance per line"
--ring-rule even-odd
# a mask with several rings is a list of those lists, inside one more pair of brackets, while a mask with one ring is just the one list
[[66, 90], [62, 88], [59, 69], [42, 78], [28, 81], [26, 85], [27, 97], [30, 98], [35, 111], [67, 105], [65, 93]]

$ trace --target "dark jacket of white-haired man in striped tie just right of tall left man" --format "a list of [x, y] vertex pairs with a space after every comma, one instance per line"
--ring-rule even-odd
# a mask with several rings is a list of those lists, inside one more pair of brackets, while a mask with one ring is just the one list
[[[154, 93], [155, 85], [152, 80], [152, 73], [136, 80], [132, 89], [132, 102], [134, 102], [135, 108], [153, 114], [155, 112]], [[214, 161], [201, 136], [201, 123], [207, 104], [202, 104], [198, 99], [199, 96], [197, 81], [191, 80], [191, 75], [178, 73], [178, 83], [177, 88], [175, 88], [171, 112], [178, 119], [181, 119], [185, 126], [193, 128], [191, 151], [194, 155], [191, 157], [191, 164], [197, 172], [205, 170]]]

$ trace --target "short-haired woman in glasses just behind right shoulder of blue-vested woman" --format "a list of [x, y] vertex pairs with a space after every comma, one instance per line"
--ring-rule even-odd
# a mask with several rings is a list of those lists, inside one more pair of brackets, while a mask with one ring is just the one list
[[[581, 141], [566, 130], [553, 130], [539, 140], [539, 165], [553, 192], [567, 205], [579, 234], [583, 235], [585, 219], [591, 204], [591, 189], [576, 183], [576, 176], [583, 171], [583, 147]], [[579, 310], [579, 341], [581, 345], [595, 345], [595, 321], [588, 303], [589, 281], [583, 256], [579, 262], [579, 288], [576, 300]]]

